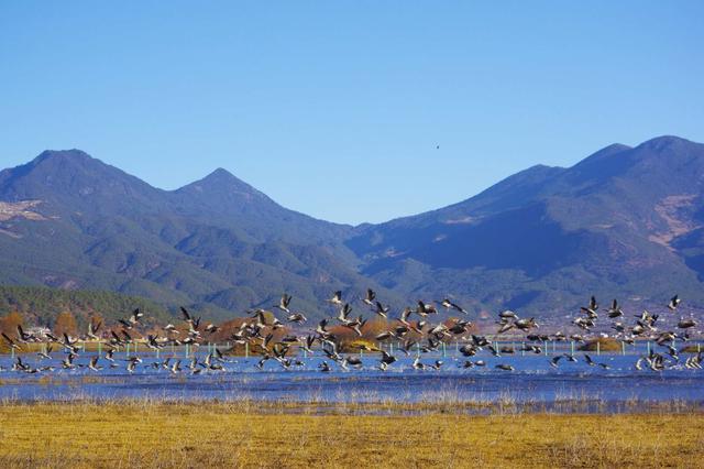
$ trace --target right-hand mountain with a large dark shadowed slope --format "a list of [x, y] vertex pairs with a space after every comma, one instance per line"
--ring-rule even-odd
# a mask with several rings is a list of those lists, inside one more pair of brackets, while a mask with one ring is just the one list
[[453, 206], [358, 231], [348, 246], [389, 288], [488, 307], [570, 310], [585, 295], [704, 305], [704, 145], [610, 145], [536, 166]]

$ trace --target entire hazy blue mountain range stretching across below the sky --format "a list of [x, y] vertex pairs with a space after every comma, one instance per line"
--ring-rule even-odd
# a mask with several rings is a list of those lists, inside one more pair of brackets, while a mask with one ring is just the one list
[[702, 308], [703, 196], [704, 145], [675, 137], [359, 227], [288, 210], [224, 170], [162, 190], [81, 151], [46, 151], [0, 172], [0, 283], [111, 290], [213, 318], [284, 291], [321, 317], [331, 292], [367, 286], [395, 313], [448, 295], [539, 317], [591, 294], [634, 313], [674, 293]]

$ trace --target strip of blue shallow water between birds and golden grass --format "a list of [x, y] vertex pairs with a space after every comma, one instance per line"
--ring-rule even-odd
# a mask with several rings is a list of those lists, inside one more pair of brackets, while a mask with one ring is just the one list
[[[91, 353], [85, 353], [76, 363], [86, 364]], [[168, 355], [163, 355], [162, 359]], [[318, 371], [321, 358], [301, 359], [304, 367], [284, 370], [271, 360], [263, 370], [255, 367], [256, 358], [237, 358], [224, 363], [224, 371], [204, 371], [190, 374], [186, 369], [172, 374], [165, 369], [153, 369], [156, 358], [142, 353], [144, 362], [133, 374], [124, 368], [124, 356], [118, 357], [120, 368], [90, 371], [86, 368], [61, 369], [61, 353], [55, 360], [40, 361], [28, 355], [24, 361], [33, 367], [53, 364], [51, 372], [28, 374], [0, 371], [0, 399], [35, 400], [113, 400], [113, 399], [168, 399], [168, 400], [265, 400], [265, 401], [318, 401], [332, 403], [362, 403], [392, 401], [399, 403], [422, 402], [476, 402], [499, 401], [544, 403], [581, 401], [597, 406], [618, 406], [629, 401], [667, 402], [682, 401], [704, 403], [704, 370], [688, 370], [675, 366], [662, 372], [637, 371], [637, 357], [619, 355], [593, 356], [598, 363], [610, 369], [590, 367], [581, 355], [579, 362], [562, 360], [552, 368], [544, 356], [492, 357], [477, 356], [486, 367], [463, 369], [464, 359], [422, 355], [421, 360], [431, 364], [443, 360], [440, 370], [414, 370], [411, 358], [400, 358], [385, 372], [377, 370], [377, 356], [363, 357], [361, 370], [343, 371], [331, 363], [331, 372]], [[183, 356], [182, 366], [187, 363]], [[205, 358], [205, 355], [204, 357]], [[682, 358], [684, 360], [684, 358]], [[328, 362], [330, 362], [328, 360]], [[497, 363], [515, 367], [515, 371], [494, 368]], [[0, 358], [0, 366], [9, 368], [12, 360]]]

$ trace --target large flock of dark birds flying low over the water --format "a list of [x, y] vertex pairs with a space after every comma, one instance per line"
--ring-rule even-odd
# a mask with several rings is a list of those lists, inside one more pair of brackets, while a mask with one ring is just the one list
[[[273, 306], [273, 309], [278, 309], [286, 315], [285, 323], [295, 325], [295, 328], [300, 328], [308, 320], [302, 313], [295, 313], [290, 309], [292, 296], [284, 294], [277, 305]], [[370, 312], [388, 319], [391, 307], [383, 305], [377, 298], [376, 293], [373, 290], [367, 290], [366, 296], [360, 298], [365, 308]], [[248, 347], [252, 353], [258, 355], [260, 359], [256, 367], [262, 369], [270, 360], [278, 363], [284, 369], [292, 368], [306, 368], [307, 360], [298, 357], [295, 350], [305, 351], [305, 357], [319, 355], [322, 360], [318, 360], [318, 369], [322, 372], [329, 372], [333, 370], [333, 367], [338, 367], [342, 370], [362, 369], [364, 367], [361, 358], [361, 353], [343, 353], [342, 345], [343, 338], [340, 332], [334, 334], [329, 327], [331, 326], [331, 319], [342, 328], [349, 329], [353, 335], [362, 337], [362, 327], [366, 324], [367, 319], [362, 315], [356, 317], [352, 316], [353, 306], [351, 303], [345, 303], [342, 299], [342, 292], [334, 292], [327, 303], [332, 307], [338, 308], [338, 315], [334, 318], [322, 319], [315, 329], [309, 330], [309, 334], [305, 335], [283, 335], [275, 340], [274, 331], [282, 329], [284, 332], [289, 329], [285, 323], [279, 320], [272, 310], [254, 309], [250, 310], [251, 317], [248, 320], [242, 321], [241, 326], [229, 337], [228, 341], [235, 345]], [[676, 312], [681, 299], [675, 295], [669, 302], [668, 309], [670, 316]], [[542, 347], [547, 347], [547, 341], [573, 341], [584, 343], [588, 339], [580, 334], [572, 334], [566, 336], [561, 331], [553, 332], [551, 335], [541, 335], [534, 331], [539, 327], [535, 318], [520, 318], [516, 313], [512, 310], [504, 310], [498, 314], [497, 331], [496, 336], [509, 331], [516, 331], [521, 337], [521, 348], [515, 349], [514, 346], [499, 347], [496, 341], [486, 336], [471, 334], [472, 323], [464, 319], [455, 319], [449, 325], [442, 321], [433, 324], [430, 317], [438, 315], [438, 304], [440, 307], [466, 315], [468, 312], [460, 305], [453, 303], [449, 298], [442, 301], [436, 301], [433, 303], [426, 303], [418, 301], [416, 307], [406, 307], [399, 315], [399, 317], [389, 321], [387, 330], [382, 331], [375, 336], [377, 343], [392, 342], [387, 350], [383, 350], [381, 347], [374, 347], [372, 342], [364, 340], [355, 341], [354, 347], [360, 352], [377, 352], [378, 363], [376, 369], [386, 371], [393, 363], [397, 361], [397, 358], [393, 355], [393, 343], [397, 345], [396, 350], [404, 353], [406, 357], [416, 355], [413, 361], [413, 368], [416, 370], [439, 370], [443, 367], [442, 360], [436, 360], [431, 363], [421, 361], [421, 353], [432, 352], [440, 350], [441, 347], [448, 341], [462, 342], [461, 347], [458, 346], [458, 351], [463, 357], [460, 360], [459, 367], [470, 369], [474, 367], [486, 367], [484, 360], [477, 359], [476, 356], [480, 351], [486, 350], [494, 357], [510, 356], [517, 351], [525, 353], [541, 355], [543, 352]], [[594, 335], [594, 329], [600, 324], [600, 306], [594, 296], [587, 306], [581, 307], [580, 316], [578, 316], [572, 324], [579, 329], [583, 330], [583, 334]], [[207, 326], [201, 325], [201, 320], [198, 317], [191, 315], [186, 308], [180, 308], [182, 318], [184, 321], [183, 328], [177, 328], [173, 324], [168, 324], [161, 329], [163, 330], [163, 337], [158, 334], [147, 335], [146, 340], [140, 339], [140, 343], [144, 343], [151, 351], [160, 352], [168, 346], [190, 346], [199, 347], [202, 343], [209, 343], [208, 337], [219, 331], [220, 328], [213, 324]], [[416, 320], [411, 320], [411, 316], [416, 316]], [[140, 326], [143, 326], [144, 314], [140, 309], [135, 309], [132, 314], [119, 320], [117, 329], [109, 331], [109, 338], [105, 340], [99, 337], [98, 334], [101, 328], [101, 324], [90, 323], [88, 330], [81, 338], [73, 338], [64, 334], [62, 337], [56, 337], [51, 332], [45, 332], [42, 336], [25, 332], [21, 326], [18, 326], [16, 337], [10, 337], [7, 334], [2, 334], [3, 340], [9, 347], [16, 351], [22, 351], [22, 345], [40, 342], [43, 343], [42, 351], [37, 352], [37, 360], [51, 360], [54, 348], [64, 352], [59, 367], [52, 364], [47, 366], [32, 366], [29, 360], [23, 359], [22, 355], [15, 357], [15, 362], [12, 364], [12, 371], [25, 372], [25, 373], [40, 373], [50, 372], [56, 368], [66, 370], [72, 369], [87, 369], [90, 371], [100, 371], [106, 367], [108, 369], [121, 367], [121, 362], [124, 363], [127, 371], [132, 373], [138, 367], [144, 367], [145, 369], [153, 370], [168, 370], [170, 373], [177, 374], [182, 372], [190, 372], [198, 374], [210, 371], [224, 370], [226, 363], [231, 359], [223, 353], [217, 347], [208, 347], [208, 353], [205, 358], [199, 358], [196, 353], [191, 358], [176, 359], [175, 357], [167, 357], [165, 359], [152, 359], [151, 362], [143, 362], [139, 355], [127, 355], [124, 358], [118, 358], [114, 353], [128, 349], [129, 346], [135, 343], [138, 339], [134, 331]], [[606, 309], [605, 316], [612, 320], [609, 324], [609, 330], [614, 332], [600, 332], [597, 338], [614, 338], [625, 343], [635, 343], [638, 339], [647, 339], [653, 341], [659, 347], [648, 350], [647, 355], [639, 357], [635, 363], [637, 370], [648, 368], [653, 371], [661, 371], [668, 368], [683, 366], [686, 369], [702, 369], [704, 359], [702, 351], [697, 350], [695, 353], [691, 353], [684, 361], [680, 360], [678, 349], [675, 348], [676, 341], [685, 342], [690, 339], [690, 330], [696, 327], [697, 324], [692, 318], [679, 318], [676, 327], [661, 328], [661, 324], [667, 323], [660, 318], [660, 315], [650, 314], [644, 312], [636, 316], [636, 320], [632, 325], [626, 325], [626, 315], [616, 299], [613, 301], [610, 307]], [[183, 332], [183, 334], [182, 334]], [[279, 336], [282, 336], [279, 334]], [[105, 353], [92, 355], [88, 358], [87, 362], [80, 360], [82, 348], [79, 346], [81, 340], [90, 340], [94, 342], [100, 342], [101, 348], [105, 346]], [[319, 347], [316, 347], [316, 346]], [[134, 350], [134, 349], [133, 349]], [[348, 350], [349, 351], [349, 347]], [[156, 353], [156, 357], [160, 357]], [[571, 353], [556, 355], [549, 359], [549, 363], [553, 368], [560, 366], [560, 361], [578, 362], [578, 357]], [[584, 362], [590, 367], [602, 367], [608, 369], [607, 363], [596, 362], [588, 355], [583, 355]], [[508, 363], [495, 364], [495, 368], [504, 371], [514, 371], [514, 367]], [[0, 371], [8, 371], [0, 367]]]

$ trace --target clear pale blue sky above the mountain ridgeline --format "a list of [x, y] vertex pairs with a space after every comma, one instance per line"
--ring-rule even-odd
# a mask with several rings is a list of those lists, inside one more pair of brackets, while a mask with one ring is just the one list
[[703, 1], [3, 1], [0, 166], [224, 167], [383, 221], [613, 142], [704, 142], [703, 24]]

